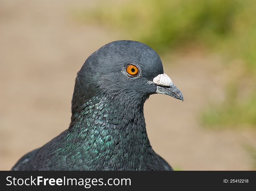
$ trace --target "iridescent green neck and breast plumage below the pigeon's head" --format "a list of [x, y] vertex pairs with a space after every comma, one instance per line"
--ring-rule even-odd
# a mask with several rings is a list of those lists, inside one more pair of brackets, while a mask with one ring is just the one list
[[79, 113], [72, 114], [65, 137], [68, 149], [77, 150], [74, 158], [83, 158], [88, 168], [96, 164], [92, 166], [102, 170], [143, 170], [150, 165], [148, 155], [152, 158], [154, 152], [147, 138], [143, 105], [93, 97], [80, 107]]

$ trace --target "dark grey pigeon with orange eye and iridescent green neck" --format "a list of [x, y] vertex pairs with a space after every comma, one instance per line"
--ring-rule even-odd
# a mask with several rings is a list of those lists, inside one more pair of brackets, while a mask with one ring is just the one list
[[156, 93], [183, 101], [157, 52], [131, 40], [102, 46], [77, 72], [68, 129], [11, 170], [173, 170], [147, 137], [143, 105]]

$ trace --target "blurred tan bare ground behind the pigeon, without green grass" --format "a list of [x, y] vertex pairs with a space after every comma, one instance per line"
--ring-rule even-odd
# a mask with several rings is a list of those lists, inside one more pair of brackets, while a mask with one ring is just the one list
[[[0, 170], [68, 127], [76, 72], [92, 52], [120, 39], [75, 21], [72, 10], [90, 3], [0, 1]], [[251, 170], [242, 145], [255, 145], [255, 132], [207, 130], [199, 123], [202, 108], [224, 99], [221, 59], [195, 50], [170, 55], [162, 58], [165, 73], [184, 102], [153, 95], [145, 103], [153, 149], [182, 170]]]

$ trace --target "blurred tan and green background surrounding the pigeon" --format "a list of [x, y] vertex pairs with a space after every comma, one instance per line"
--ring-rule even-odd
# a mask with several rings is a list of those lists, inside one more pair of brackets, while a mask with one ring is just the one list
[[175, 170], [256, 170], [255, 8], [254, 0], [1, 0], [0, 170], [68, 128], [76, 72], [120, 39], [156, 50], [184, 95], [145, 103], [158, 154]]

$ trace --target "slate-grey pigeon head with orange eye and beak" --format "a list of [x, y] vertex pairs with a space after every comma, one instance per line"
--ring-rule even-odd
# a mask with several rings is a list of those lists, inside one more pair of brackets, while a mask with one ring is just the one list
[[138, 41], [121, 40], [102, 46], [86, 59], [77, 74], [72, 102], [77, 105], [105, 96], [136, 106], [155, 93], [183, 101], [152, 48]]

